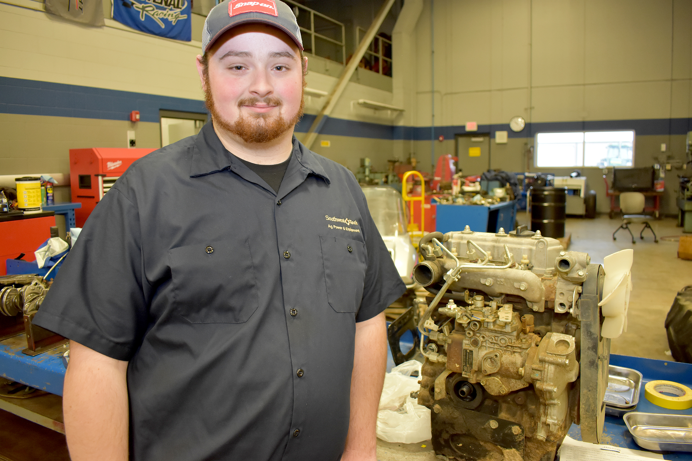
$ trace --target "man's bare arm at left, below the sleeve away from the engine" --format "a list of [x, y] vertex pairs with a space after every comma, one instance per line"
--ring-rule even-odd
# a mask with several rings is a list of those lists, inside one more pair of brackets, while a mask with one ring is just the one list
[[127, 461], [127, 361], [70, 342], [62, 397], [72, 461]]

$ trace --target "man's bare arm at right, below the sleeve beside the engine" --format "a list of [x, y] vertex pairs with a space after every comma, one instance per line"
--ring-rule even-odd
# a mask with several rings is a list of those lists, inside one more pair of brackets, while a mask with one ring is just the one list
[[387, 368], [385, 314], [356, 323], [351, 416], [342, 461], [375, 460], [377, 407]]

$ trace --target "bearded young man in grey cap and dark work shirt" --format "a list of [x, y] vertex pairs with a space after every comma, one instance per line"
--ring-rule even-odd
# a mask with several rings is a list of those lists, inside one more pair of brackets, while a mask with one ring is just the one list
[[405, 288], [352, 173], [293, 138], [298, 24], [226, 0], [203, 52], [212, 122], [116, 182], [35, 317], [71, 339], [71, 457], [374, 461]]

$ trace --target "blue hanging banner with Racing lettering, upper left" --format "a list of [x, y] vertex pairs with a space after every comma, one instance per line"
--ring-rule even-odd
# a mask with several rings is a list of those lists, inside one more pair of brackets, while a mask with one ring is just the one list
[[192, 39], [192, 0], [112, 0], [111, 5], [113, 19], [125, 26], [167, 39]]

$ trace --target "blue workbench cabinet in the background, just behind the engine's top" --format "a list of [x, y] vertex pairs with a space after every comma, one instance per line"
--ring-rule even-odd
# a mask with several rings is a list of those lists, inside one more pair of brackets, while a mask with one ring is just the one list
[[457, 231], [468, 225], [474, 232], [504, 232], [514, 229], [517, 216], [516, 200], [495, 205], [437, 205], [437, 232]]

